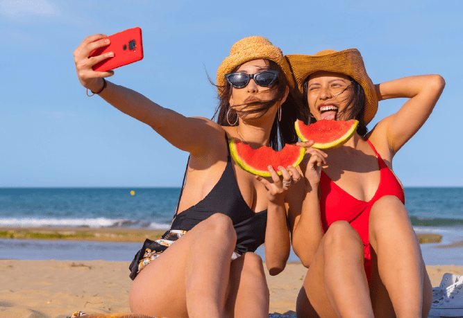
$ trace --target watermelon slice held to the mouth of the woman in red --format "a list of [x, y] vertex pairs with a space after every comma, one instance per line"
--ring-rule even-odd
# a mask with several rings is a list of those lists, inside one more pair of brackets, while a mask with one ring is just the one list
[[317, 123], [305, 125], [297, 120], [294, 123], [296, 133], [302, 141], [313, 140], [313, 148], [333, 149], [344, 145], [357, 129], [358, 121], [335, 121], [334, 119], [321, 119]]

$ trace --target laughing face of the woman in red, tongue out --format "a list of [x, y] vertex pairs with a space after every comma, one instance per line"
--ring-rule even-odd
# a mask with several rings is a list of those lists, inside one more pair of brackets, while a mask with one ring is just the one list
[[320, 119], [345, 121], [346, 109], [352, 96], [351, 78], [342, 73], [318, 71], [310, 75], [307, 101], [312, 116]]

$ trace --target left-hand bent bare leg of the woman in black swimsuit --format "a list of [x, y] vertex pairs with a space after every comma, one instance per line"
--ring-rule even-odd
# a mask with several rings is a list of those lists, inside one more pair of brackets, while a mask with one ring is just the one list
[[223, 317], [236, 233], [228, 216], [199, 223], [133, 282], [132, 312], [162, 317]]

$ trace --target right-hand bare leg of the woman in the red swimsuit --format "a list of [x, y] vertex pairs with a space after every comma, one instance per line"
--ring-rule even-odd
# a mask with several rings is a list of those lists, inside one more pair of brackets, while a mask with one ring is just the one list
[[369, 240], [375, 316], [428, 317], [432, 288], [410, 217], [397, 197], [381, 197], [373, 204]]

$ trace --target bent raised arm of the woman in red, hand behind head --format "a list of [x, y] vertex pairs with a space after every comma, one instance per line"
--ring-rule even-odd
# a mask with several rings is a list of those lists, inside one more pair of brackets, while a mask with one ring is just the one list
[[400, 78], [376, 85], [378, 100], [410, 98], [401, 109], [373, 128], [371, 140], [389, 148], [391, 157], [416, 134], [430, 116], [445, 87], [439, 75]]

